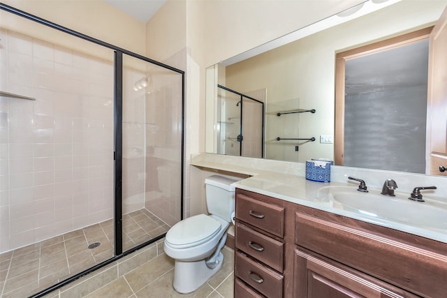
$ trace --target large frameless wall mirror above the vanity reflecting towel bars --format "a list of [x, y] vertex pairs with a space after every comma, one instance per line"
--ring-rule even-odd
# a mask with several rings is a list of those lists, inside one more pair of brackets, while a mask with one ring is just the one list
[[[375, 3], [384, 2], [386, 1], [367, 1], [364, 4], [379, 5]], [[343, 14], [332, 16], [332, 19], [339, 18], [342, 20], [341, 24], [298, 38], [291, 43], [256, 54], [242, 61], [239, 57], [233, 57], [228, 59], [228, 61], [222, 61], [220, 64], [207, 68], [205, 151], [207, 153], [231, 155], [229, 150], [225, 151], [225, 148], [239, 146], [237, 142], [240, 139], [237, 140], [237, 135], [228, 135], [230, 132], [234, 134], [230, 126], [235, 124], [224, 123], [226, 122], [224, 119], [229, 118], [225, 116], [226, 113], [228, 114], [226, 109], [230, 107], [235, 111], [235, 109], [249, 108], [248, 105], [246, 107], [242, 105], [241, 107], [240, 104], [237, 104], [240, 100], [239, 98], [226, 98], [226, 96], [222, 95], [218, 89], [218, 85], [221, 85], [240, 94], [248, 94], [264, 103], [264, 120], [257, 121], [263, 126], [256, 128], [256, 131], [262, 130], [264, 134], [263, 144], [260, 145], [263, 147], [262, 156], [245, 156], [294, 162], [304, 162], [312, 158], [337, 159], [335, 158], [335, 149], [337, 147], [335, 134], [337, 131], [336, 126], [338, 125], [335, 121], [335, 61], [337, 54], [432, 27], [437, 23], [447, 6], [446, 0], [402, 0], [389, 2], [388, 6], [361, 17], [353, 17], [351, 15], [352, 19], [349, 21], [343, 22]], [[357, 8], [360, 8], [358, 12], [361, 12], [362, 4]], [[324, 21], [326, 20], [322, 22]], [[417, 64], [416, 67], [422, 68], [422, 72], [425, 71], [425, 75], [415, 76], [418, 79], [421, 78], [422, 82], [416, 82], [415, 77], [410, 78], [410, 81], [413, 80], [411, 81], [412, 85], [425, 84], [425, 90], [427, 89], [428, 36], [427, 34], [421, 38], [420, 40], [423, 41], [423, 44], [418, 46], [423, 52], [421, 54], [423, 56], [422, 60], [414, 63], [412, 59], [415, 55], [413, 55], [410, 60], [402, 62], [404, 65]], [[397, 57], [402, 57], [406, 52], [413, 53], [414, 51], [410, 49], [398, 52]], [[387, 62], [387, 59], [388, 61], [396, 60], [395, 58], [381, 59], [384, 61], [384, 65], [390, 64]], [[405, 60], [402, 59], [402, 61]], [[359, 69], [362, 71], [357, 70], [352, 73], [368, 73], [370, 68], [360, 64]], [[415, 68], [411, 69], [401, 70], [402, 76], [418, 71], [414, 70]], [[400, 76], [401, 74], [393, 74], [393, 80], [388, 81], [397, 82], [399, 80], [395, 79]], [[369, 82], [369, 79], [365, 79], [363, 82], [353, 79], [356, 79], [356, 77], [349, 77], [349, 80], [346, 78], [346, 84], [348, 81], [354, 82], [349, 88], [358, 87], [359, 84], [372, 84]], [[389, 82], [381, 82], [381, 84], [388, 85]], [[393, 89], [394, 87], [390, 88]], [[365, 92], [364, 89], [361, 90]], [[406, 90], [408, 91], [408, 89]], [[367, 92], [377, 93], [377, 90], [372, 91], [371, 89]], [[418, 92], [421, 94], [421, 100], [426, 102], [427, 93], [425, 92], [424, 94], [424, 91], [420, 90]], [[411, 94], [416, 94], [416, 92], [411, 90]], [[369, 100], [372, 101], [374, 99], [369, 98]], [[388, 106], [387, 108], [388, 110], [394, 109], [396, 114], [402, 114], [400, 113], [400, 107], [404, 110], [404, 106], [406, 107], [405, 102], [399, 103], [397, 100], [397, 102], [393, 103], [393, 106]], [[427, 107], [427, 103], [423, 104], [424, 106]], [[418, 109], [418, 107], [415, 108]], [[372, 109], [374, 109], [374, 106], [367, 105], [364, 107], [364, 118], [376, 114]], [[427, 114], [426, 108], [425, 110], [423, 109], [423, 113]], [[412, 119], [414, 117], [409, 117], [408, 122], [411, 122]], [[247, 119], [244, 121], [247, 121]], [[374, 160], [383, 158], [383, 152], [388, 149], [387, 146], [392, 146], [391, 142], [388, 142], [390, 137], [387, 135], [386, 130], [382, 133], [374, 131], [376, 128], [379, 129], [374, 124], [377, 121], [377, 119], [374, 119], [371, 124], [368, 124], [367, 126], [372, 128], [372, 131], [365, 131], [362, 135], [368, 136], [371, 134], [372, 136], [373, 133], [379, 135], [379, 141], [371, 139], [371, 142], [374, 142], [374, 144], [381, 142], [380, 146], [376, 146], [379, 150], [373, 153], [367, 151], [365, 153], [360, 152], [360, 156], [363, 154], [365, 160], [368, 158], [368, 162], [362, 163], [360, 158], [360, 163], [351, 166], [402, 172], [428, 172], [426, 165], [419, 165], [418, 169], [415, 170], [414, 167], [388, 166], [390, 163], [387, 162], [374, 163]], [[396, 156], [390, 157], [391, 159], [403, 158], [402, 150], [409, 149], [409, 146], [422, 148], [425, 151], [426, 126], [424, 121], [427, 120], [418, 119], [418, 121], [420, 124], [416, 125], [416, 128], [413, 126], [411, 129], [423, 131], [422, 136], [407, 142], [401, 149], [389, 150], [397, 151]], [[242, 120], [240, 124], [243, 124]], [[446, 123], [439, 125], [445, 126]], [[240, 131], [242, 131], [242, 128], [240, 128]], [[368, 138], [366, 140], [368, 141]], [[348, 138], [344, 139], [345, 147], [346, 142], [350, 142]], [[358, 146], [354, 144], [353, 147]], [[398, 164], [405, 165], [411, 162], [411, 160], [403, 160]], [[339, 165], [342, 165], [342, 163], [339, 163]]]

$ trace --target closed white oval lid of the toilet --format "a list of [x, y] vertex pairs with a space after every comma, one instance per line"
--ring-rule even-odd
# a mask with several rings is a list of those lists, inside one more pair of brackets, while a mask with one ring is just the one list
[[179, 221], [166, 234], [166, 241], [175, 246], [202, 244], [221, 230], [221, 223], [210, 216], [199, 214]]

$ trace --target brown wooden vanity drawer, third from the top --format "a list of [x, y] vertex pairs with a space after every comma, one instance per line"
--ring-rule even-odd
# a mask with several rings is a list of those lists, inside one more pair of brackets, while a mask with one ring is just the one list
[[235, 255], [235, 276], [267, 297], [282, 297], [284, 277], [240, 252]]

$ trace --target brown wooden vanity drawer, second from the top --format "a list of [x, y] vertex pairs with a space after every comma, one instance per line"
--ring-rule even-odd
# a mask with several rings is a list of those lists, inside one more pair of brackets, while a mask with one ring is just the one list
[[236, 234], [237, 249], [279, 272], [283, 271], [284, 244], [282, 242], [251, 230], [242, 223], [236, 223]]

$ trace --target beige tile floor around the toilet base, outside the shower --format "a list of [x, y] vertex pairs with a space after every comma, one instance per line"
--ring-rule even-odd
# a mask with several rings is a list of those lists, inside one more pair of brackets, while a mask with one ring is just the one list
[[179, 294], [173, 288], [174, 260], [165, 253], [133, 269], [124, 276], [91, 292], [87, 298], [233, 298], [234, 251], [222, 249], [222, 268], [190, 294]]

